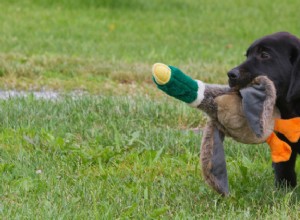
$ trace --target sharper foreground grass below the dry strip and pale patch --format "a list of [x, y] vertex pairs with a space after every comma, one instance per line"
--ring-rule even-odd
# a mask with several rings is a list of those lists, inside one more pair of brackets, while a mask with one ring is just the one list
[[209, 189], [200, 174], [201, 135], [187, 129], [202, 117], [182, 103], [128, 96], [56, 102], [29, 97], [1, 106], [4, 218], [299, 214], [299, 191], [273, 186], [266, 145], [227, 140], [231, 196], [220, 198]]

